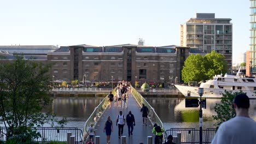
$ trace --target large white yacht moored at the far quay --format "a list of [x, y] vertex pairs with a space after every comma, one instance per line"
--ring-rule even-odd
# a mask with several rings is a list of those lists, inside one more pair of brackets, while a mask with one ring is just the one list
[[[202, 82], [200, 87], [203, 88], [203, 97], [221, 98], [225, 90], [232, 92], [245, 92], [249, 98], [256, 99], [256, 79], [242, 76], [241, 68], [236, 75], [215, 75], [212, 80]], [[175, 85], [184, 96], [199, 97], [198, 88], [193, 86]]]

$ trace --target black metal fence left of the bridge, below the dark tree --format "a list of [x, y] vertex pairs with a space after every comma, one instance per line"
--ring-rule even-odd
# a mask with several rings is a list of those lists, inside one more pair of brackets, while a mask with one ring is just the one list
[[[33, 128], [32, 128], [33, 129]], [[6, 141], [6, 128], [1, 127], [0, 130], [0, 140]], [[67, 141], [67, 132], [72, 132], [72, 135], [75, 136], [75, 143], [82, 141], [82, 130], [78, 128], [51, 128], [51, 127], [37, 127], [36, 131], [41, 134], [39, 139], [36, 139], [37, 142], [43, 141]]]

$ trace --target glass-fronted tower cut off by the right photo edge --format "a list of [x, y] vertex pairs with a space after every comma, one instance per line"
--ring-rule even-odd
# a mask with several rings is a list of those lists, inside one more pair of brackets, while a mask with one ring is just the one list
[[250, 66], [250, 76], [256, 76], [256, 1], [250, 0], [251, 5], [251, 44], [250, 44], [250, 52], [251, 59], [249, 63], [246, 63]]

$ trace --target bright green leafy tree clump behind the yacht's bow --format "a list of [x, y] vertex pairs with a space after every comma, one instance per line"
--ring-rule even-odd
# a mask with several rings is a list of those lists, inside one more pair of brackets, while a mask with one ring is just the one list
[[190, 81], [209, 80], [216, 74], [226, 73], [227, 64], [224, 56], [212, 51], [206, 56], [190, 55], [182, 69], [182, 80]]

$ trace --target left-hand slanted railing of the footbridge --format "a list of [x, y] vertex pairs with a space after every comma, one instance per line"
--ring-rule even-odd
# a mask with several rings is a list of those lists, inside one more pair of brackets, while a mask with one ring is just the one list
[[[116, 88], [115, 88], [116, 89]], [[115, 95], [115, 89], [113, 89], [112, 94]], [[91, 124], [96, 125], [97, 122], [100, 120], [102, 113], [104, 112], [104, 110], [106, 110], [106, 108], [109, 105], [109, 101], [108, 101], [108, 95], [101, 101], [100, 104], [98, 104], [98, 106], [95, 107], [94, 111], [91, 113], [90, 117], [87, 119], [87, 121], [84, 123], [84, 128], [83, 128], [83, 140], [88, 139], [88, 129], [90, 127]]]

